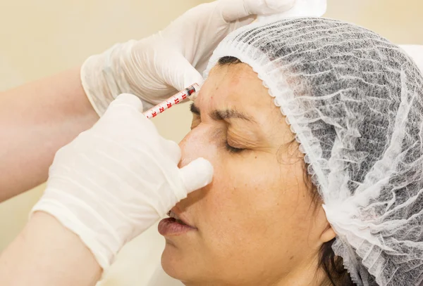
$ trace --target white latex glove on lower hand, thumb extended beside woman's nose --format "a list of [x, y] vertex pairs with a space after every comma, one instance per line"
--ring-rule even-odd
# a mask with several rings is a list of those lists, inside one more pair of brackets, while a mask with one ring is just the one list
[[141, 111], [136, 96], [118, 96], [92, 129], [56, 153], [32, 209], [79, 235], [103, 268], [125, 242], [212, 181], [213, 167], [202, 158], [179, 169], [179, 146]]

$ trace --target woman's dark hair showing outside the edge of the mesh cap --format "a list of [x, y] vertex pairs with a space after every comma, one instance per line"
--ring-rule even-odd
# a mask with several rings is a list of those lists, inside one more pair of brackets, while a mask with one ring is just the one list
[[[225, 56], [219, 58], [219, 65], [235, 65], [242, 63], [240, 59], [233, 56]], [[291, 142], [294, 143], [295, 139]], [[304, 162], [304, 161], [303, 161]], [[317, 192], [317, 188], [312, 184], [309, 175], [307, 174], [307, 164], [304, 162], [305, 169], [305, 182], [309, 189], [312, 191], [312, 202], [317, 206], [321, 203], [321, 198]], [[327, 278], [332, 286], [354, 286], [355, 283], [351, 280], [351, 276], [343, 266], [343, 259], [340, 256], [336, 256], [333, 252], [332, 244], [335, 242], [335, 238], [329, 242], [325, 242], [319, 252], [319, 267], [324, 270]]]

